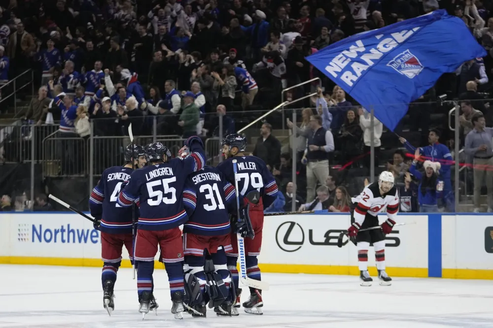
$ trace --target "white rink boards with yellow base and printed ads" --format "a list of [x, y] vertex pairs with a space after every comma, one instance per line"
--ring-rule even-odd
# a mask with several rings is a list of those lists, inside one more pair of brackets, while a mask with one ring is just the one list
[[[397, 221], [406, 225], [387, 235], [389, 275], [493, 279], [493, 215], [399, 214]], [[347, 214], [267, 216], [259, 266], [264, 272], [359, 274], [356, 247], [337, 247], [349, 226]], [[2, 264], [100, 267], [100, 243], [92, 222], [71, 212], [0, 214]], [[122, 257], [128, 259], [125, 248]], [[372, 271], [372, 249], [368, 262]]]

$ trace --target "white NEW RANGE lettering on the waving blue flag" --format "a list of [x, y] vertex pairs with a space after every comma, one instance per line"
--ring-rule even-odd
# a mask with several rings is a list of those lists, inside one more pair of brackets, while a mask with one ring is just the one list
[[[348, 50], [344, 50], [334, 57], [325, 66], [325, 70], [335, 78], [342, 72], [340, 79], [352, 87], [354, 82], [363, 75], [364, 71], [375, 65], [376, 61], [382, 59], [385, 53], [399, 46], [400, 43], [406, 41], [419, 29], [402, 30], [400, 32], [390, 33], [390, 35], [375, 35], [376, 40], [374, 38], [365, 40], [368, 44], [376, 44], [378, 40], [381, 40], [376, 47], [372, 47], [371, 49], [367, 49], [368, 46], [365, 47], [363, 41], [356, 40], [356, 45], [352, 45]], [[348, 65], [349, 67], [347, 67]]]

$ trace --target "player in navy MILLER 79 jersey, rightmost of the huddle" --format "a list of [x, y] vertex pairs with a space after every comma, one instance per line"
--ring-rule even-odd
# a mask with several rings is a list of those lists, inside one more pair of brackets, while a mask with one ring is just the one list
[[[228, 257], [228, 269], [233, 274], [233, 282], [236, 289], [236, 301], [233, 305], [232, 315], [239, 315], [240, 295], [242, 290], [238, 288], [238, 241], [236, 234], [240, 233], [245, 238], [246, 274], [249, 278], [260, 280], [260, 269], [257, 265], [257, 256], [262, 245], [262, 227], [264, 223], [264, 209], [268, 208], [276, 199], [278, 187], [276, 180], [267, 168], [263, 160], [255, 156], [245, 156], [246, 138], [241, 134], [230, 134], [223, 140], [222, 152], [226, 160], [219, 163], [217, 169], [221, 171], [226, 180], [235, 184], [233, 172], [233, 158], [238, 160], [238, 188], [242, 198], [240, 206], [246, 209], [246, 218], [241, 223], [235, 220], [234, 231], [231, 234], [233, 251], [226, 252]], [[258, 194], [260, 193], [260, 197]], [[257, 197], [255, 197], [257, 195]], [[248, 220], [250, 222], [248, 222]], [[249, 224], [251, 223], [251, 225]], [[251, 229], [250, 229], [251, 228]], [[253, 230], [253, 231], [250, 231]], [[250, 298], [243, 303], [246, 313], [262, 314], [263, 306], [261, 291], [250, 288]]]

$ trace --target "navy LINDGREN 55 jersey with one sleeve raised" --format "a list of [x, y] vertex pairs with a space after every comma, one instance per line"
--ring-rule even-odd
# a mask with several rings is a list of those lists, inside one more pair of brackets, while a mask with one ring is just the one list
[[162, 231], [175, 228], [187, 220], [181, 200], [185, 181], [193, 172], [204, 167], [203, 149], [194, 151], [181, 160], [173, 158], [167, 163], [145, 166], [132, 173], [128, 184], [118, 196], [124, 207], [133, 201], [140, 203], [138, 229]]

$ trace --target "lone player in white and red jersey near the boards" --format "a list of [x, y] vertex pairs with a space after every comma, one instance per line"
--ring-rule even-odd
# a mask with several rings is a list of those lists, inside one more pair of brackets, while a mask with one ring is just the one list
[[[373, 243], [375, 261], [377, 263], [380, 285], [389, 286], [392, 279], [385, 272], [385, 235], [392, 231], [395, 225], [395, 216], [399, 209], [399, 196], [394, 186], [394, 176], [388, 171], [382, 172], [378, 183], [370, 183], [361, 194], [356, 197], [356, 208], [352, 217], [352, 225], [348, 232], [350, 237], [356, 238], [358, 248], [358, 264], [361, 286], [371, 286], [373, 279], [368, 274], [368, 248]], [[371, 227], [377, 227], [378, 214], [387, 212], [387, 220], [382, 223], [382, 229], [361, 231]]]

